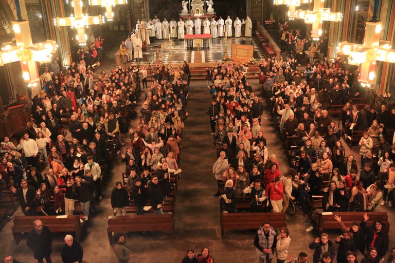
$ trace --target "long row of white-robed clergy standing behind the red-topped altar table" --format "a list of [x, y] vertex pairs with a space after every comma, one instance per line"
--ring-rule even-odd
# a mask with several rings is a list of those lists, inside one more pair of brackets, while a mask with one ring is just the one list
[[239, 20], [239, 17], [236, 17], [236, 20], [233, 22], [228, 16], [224, 21], [220, 16], [219, 20], [216, 21], [214, 18], [211, 18], [211, 21], [206, 19], [202, 22], [199, 16], [195, 18], [194, 21], [188, 17], [187, 21], [183, 21], [182, 18], [179, 18], [178, 22], [174, 21], [174, 18], [170, 22], [164, 18], [163, 22], [160, 22], [159, 18], [155, 17], [150, 19], [149, 22], [138, 21], [136, 25], [136, 33], [139, 34], [142, 41], [146, 41], [147, 45], [150, 44], [150, 41], [154, 39], [169, 39], [177, 37], [178, 39], [183, 40], [184, 36], [190, 34], [201, 34], [202, 26], [203, 26], [203, 34], [211, 34], [213, 39], [217, 37], [231, 37], [232, 36], [232, 27], [235, 28], [235, 37], [242, 36], [241, 25], [245, 25], [244, 36], [252, 36], [252, 28], [253, 24], [249, 17], [246, 17], [246, 20]]

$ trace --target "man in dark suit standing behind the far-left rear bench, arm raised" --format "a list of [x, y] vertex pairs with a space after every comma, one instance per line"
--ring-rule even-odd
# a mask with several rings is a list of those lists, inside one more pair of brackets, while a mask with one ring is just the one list
[[21, 188], [16, 189], [14, 186], [11, 186], [10, 189], [12, 191], [12, 195], [18, 197], [22, 212], [25, 216], [37, 215], [34, 203], [35, 189], [33, 186], [27, 184], [26, 179], [21, 180]]

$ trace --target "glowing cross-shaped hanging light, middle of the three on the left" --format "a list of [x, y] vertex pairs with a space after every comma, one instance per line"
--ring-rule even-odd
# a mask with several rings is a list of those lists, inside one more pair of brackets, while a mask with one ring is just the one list
[[57, 17], [53, 20], [53, 23], [57, 27], [71, 27], [77, 30], [76, 39], [80, 45], [86, 45], [87, 35], [85, 33], [85, 28], [89, 25], [101, 25], [104, 21], [101, 15], [84, 14], [82, 12], [82, 1], [73, 0], [71, 6], [74, 8], [74, 16], [69, 17]]

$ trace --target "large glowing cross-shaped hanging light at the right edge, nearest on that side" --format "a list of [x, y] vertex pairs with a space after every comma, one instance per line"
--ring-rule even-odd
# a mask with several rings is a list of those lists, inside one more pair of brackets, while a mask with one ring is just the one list
[[376, 61], [395, 63], [395, 49], [391, 49], [389, 41], [380, 41], [383, 30], [382, 21], [366, 22], [364, 43], [339, 43], [339, 54], [348, 55], [348, 63], [360, 66], [358, 82], [370, 86], [375, 83]]

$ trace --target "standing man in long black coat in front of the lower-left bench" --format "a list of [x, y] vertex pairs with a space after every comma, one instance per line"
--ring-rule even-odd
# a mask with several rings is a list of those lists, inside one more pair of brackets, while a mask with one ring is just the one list
[[29, 232], [27, 236], [26, 245], [33, 250], [34, 258], [38, 263], [44, 262], [52, 263], [52, 233], [47, 226], [44, 226], [41, 220], [33, 222], [34, 229]]

